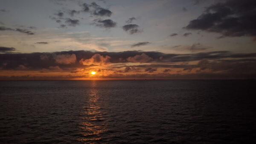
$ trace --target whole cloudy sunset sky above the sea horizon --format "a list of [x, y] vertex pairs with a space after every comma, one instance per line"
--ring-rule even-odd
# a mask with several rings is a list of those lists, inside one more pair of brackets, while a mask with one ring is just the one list
[[0, 80], [250, 78], [255, 0], [0, 0]]

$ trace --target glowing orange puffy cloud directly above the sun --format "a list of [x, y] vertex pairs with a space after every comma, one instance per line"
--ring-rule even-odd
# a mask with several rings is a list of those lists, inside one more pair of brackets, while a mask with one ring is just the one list
[[106, 65], [110, 62], [111, 57], [106, 55], [105, 57], [99, 54], [93, 55], [89, 59], [81, 59], [79, 62], [83, 65]]

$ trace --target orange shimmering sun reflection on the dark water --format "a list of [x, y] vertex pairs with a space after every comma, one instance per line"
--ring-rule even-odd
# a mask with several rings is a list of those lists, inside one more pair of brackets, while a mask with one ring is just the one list
[[80, 123], [83, 137], [79, 138], [79, 141], [86, 143], [102, 139], [101, 134], [107, 131], [107, 124], [101, 107], [102, 102], [99, 100], [99, 95], [97, 95], [96, 81], [92, 81], [92, 88], [89, 91], [87, 106], [84, 107], [83, 111], [85, 116]]

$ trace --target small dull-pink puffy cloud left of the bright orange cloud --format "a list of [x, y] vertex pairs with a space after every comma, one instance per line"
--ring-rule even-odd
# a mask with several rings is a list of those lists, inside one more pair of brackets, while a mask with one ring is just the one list
[[76, 55], [75, 54], [56, 55], [55, 60], [56, 60], [56, 63], [62, 63], [62, 64], [75, 63]]

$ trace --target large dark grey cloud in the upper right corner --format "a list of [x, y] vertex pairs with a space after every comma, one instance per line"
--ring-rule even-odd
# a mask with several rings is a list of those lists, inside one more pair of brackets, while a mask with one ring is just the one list
[[256, 1], [223, 0], [207, 7], [186, 29], [217, 32], [222, 36], [256, 36]]

